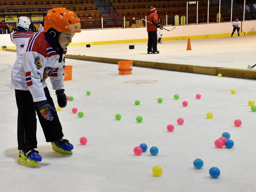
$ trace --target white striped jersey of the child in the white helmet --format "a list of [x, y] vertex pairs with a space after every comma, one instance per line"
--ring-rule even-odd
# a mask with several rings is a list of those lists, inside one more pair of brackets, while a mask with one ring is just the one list
[[11, 41], [16, 45], [17, 57], [24, 45], [35, 35], [33, 31], [15, 31], [11, 33]]

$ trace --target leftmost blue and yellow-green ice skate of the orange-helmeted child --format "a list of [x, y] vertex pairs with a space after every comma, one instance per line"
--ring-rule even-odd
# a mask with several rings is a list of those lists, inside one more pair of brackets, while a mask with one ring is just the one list
[[25, 166], [37, 167], [39, 165], [37, 161], [42, 161], [42, 157], [39, 155], [39, 152], [36, 151], [35, 149], [19, 150], [19, 157], [17, 161], [19, 164]]

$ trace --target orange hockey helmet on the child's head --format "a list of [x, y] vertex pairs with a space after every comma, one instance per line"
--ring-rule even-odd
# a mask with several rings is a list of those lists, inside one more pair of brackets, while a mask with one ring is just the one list
[[81, 32], [81, 24], [76, 13], [66, 8], [48, 10], [44, 21], [44, 31], [47, 32], [50, 28], [58, 32]]

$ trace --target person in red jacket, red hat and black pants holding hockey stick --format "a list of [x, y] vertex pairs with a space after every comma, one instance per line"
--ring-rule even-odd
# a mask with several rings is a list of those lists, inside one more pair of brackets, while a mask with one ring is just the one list
[[157, 51], [157, 28], [160, 28], [160, 23], [158, 22], [155, 7], [150, 7], [150, 15], [148, 15], [147, 20], [153, 23], [147, 22], [148, 54], [156, 54], [159, 53], [159, 51]]

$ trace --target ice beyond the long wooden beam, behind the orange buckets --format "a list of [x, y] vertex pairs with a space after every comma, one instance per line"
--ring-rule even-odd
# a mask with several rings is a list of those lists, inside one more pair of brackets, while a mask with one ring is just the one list
[[[147, 54], [146, 42], [68, 47], [68, 54], [243, 69], [256, 63], [256, 36], [191, 39], [191, 51], [186, 50], [187, 43], [163, 41], [157, 45], [160, 54]], [[135, 49], [129, 50], [129, 45]]]

